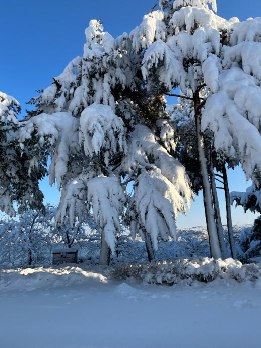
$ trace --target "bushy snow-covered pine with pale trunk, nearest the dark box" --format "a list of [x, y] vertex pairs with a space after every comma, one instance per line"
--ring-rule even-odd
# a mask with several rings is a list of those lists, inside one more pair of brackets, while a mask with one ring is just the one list
[[100, 262], [106, 263], [125, 203], [120, 177], [109, 167], [111, 157], [126, 149], [112, 92], [124, 90], [132, 78], [128, 60], [101, 22], [91, 21], [85, 34], [84, 56], [75, 58], [31, 101], [37, 109], [25, 128], [29, 136], [32, 130], [40, 136], [40, 147], [51, 155], [50, 184], [56, 181], [62, 188], [57, 224], [68, 217], [73, 228], [91, 211], [103, 237], [101, 250], [107, 252], [101, 252]]

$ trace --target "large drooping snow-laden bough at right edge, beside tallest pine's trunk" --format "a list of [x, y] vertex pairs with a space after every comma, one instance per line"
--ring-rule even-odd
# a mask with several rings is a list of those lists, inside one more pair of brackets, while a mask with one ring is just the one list
[[237, 157], [249, 179], [261, 170], [261, 89], [252, 76], [233, 67], [218, 76], [219, 91], [211, 95], [202, 113], [202, 129], [215, 134], [214, 146]]

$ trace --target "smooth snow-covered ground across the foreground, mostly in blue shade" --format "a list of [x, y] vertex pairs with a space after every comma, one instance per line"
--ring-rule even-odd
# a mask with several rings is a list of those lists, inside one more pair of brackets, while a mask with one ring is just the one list
[[192, 286], [99, 266], [0, 272], [1, 348], [259, 348], [261, 278]]

